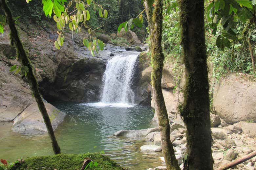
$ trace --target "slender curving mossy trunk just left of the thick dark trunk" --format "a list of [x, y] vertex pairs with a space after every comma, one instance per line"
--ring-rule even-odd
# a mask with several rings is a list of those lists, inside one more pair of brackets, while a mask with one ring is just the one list
[[[155, 9], [153, 11], [153, 25], [151, 39], [151, 61], [153, 70], [151, 73], [153, 100], [155, 110], [158, 116], [159, 129], [161, 134], [162, 152], [165, 159], [167, 170], [180, 170], [178, 161], [176, 160], [174, 149], [170, 140], [170, 124], [163, 99], [161, 79], [163, 71], [164, 55], [162, 53], [162, 0], [155, 1]], [[148, 16], [150, 17], [150, 16]]]

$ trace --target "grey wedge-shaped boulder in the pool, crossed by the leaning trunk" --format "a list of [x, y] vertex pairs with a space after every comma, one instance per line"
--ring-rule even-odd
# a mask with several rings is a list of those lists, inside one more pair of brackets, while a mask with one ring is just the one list
[[[51, 119], [53, 130], [63, 121], [65, 113], [59, 111], [56, 107], [49, 103], [44, 103], [48, 115]], [[14, 119], [12, 130], [17, 132], [43, 131], [47, 132], [43, 117], [37, 107], [37, 103], [27, 107], [19, 116]]]

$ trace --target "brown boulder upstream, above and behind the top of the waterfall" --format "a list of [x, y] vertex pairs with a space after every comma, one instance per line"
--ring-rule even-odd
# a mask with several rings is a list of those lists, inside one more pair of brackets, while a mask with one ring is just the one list
[[121, 29], [120, 32], [117, 33], [117, 37], [119, 38], [125, 38], [130, 44], [133, 45], [141, 45], [140, 40], [138, 39], [138, 36], [131, 30], [125, 31], [124, 28]]

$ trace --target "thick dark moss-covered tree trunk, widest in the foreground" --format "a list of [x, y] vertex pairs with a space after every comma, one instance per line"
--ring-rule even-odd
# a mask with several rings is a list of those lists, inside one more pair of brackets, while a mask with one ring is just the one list
[[179, 0], [186, 83], [181, 116], [187, 126], [189, 170], [212, 170], [204, 1]]

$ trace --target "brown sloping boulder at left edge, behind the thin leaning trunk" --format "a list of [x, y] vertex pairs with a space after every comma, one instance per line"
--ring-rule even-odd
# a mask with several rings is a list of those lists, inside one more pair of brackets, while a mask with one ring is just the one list
[[0, 62], [0, 122], [12, 121], [33, 101], [29, 85]]

